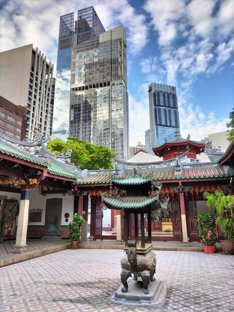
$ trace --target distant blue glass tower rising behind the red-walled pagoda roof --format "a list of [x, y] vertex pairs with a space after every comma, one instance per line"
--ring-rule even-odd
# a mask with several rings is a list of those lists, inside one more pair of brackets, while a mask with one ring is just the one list
[[176, 87], [151, 83], [149, 85], [150, 141], [152, 145], [172, 140], [179, 127]]

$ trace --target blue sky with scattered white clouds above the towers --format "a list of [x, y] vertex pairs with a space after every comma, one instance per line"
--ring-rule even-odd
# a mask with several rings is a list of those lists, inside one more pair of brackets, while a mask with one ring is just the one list
[[130, 145], [149, 129], [151, 82], [176, 86], [183, 137], [227, 129], [234, 0], [0, 0], [0, 51], [33, 43], [56, 67], [59, 17], [88, 6], [127, 33]]

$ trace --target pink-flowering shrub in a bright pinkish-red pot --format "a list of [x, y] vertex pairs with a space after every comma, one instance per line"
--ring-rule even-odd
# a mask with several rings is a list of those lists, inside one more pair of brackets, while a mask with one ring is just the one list
[[204, 253], [216, 252], [216, 224], [215, 224], [216, 211], [198, 211], [197, 210], [197, 223], [199, 230], [198, 237], [203, 245]]

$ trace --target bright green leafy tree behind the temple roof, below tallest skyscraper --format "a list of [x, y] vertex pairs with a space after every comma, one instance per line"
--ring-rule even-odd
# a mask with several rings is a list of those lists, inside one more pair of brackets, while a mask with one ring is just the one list
[[67, 138], [66, 142], [61, 139], [50, 140], [46, 147], [54, 154], [71, 149], [71, 163], [81, 170], [112, 169], [112, 157], [116, 157], [107, 147], [94, 145], [75, 137]]

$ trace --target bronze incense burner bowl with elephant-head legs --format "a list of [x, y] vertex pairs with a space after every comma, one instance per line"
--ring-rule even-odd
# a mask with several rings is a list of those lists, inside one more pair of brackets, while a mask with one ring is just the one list
[[[128, 291], [127, 280], [129, 276], [133, 276], [134, 280], [141, 277], [143, 282], [144, 294], [149, 294], [149, 282], [155, 281], [154, 273], [156, 268], [156, 257], [152, 251], [152, 244], [146, 244], [144, 248], [137, 248], [135, 241], [128, 241], [128, 247], [124, 248], [126, 254], [121, 259], [122, 271], [120, 274], [121, 282], [124, 287], [122, 292]], [[134, 246], [133, 246], [134, 245]]]

